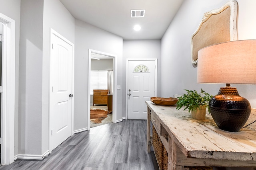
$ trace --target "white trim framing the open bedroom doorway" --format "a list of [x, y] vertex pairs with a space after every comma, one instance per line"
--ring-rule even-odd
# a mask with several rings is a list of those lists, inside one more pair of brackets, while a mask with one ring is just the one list
[[113, 58], [113, 73], [114, 73], [114, 77], [113, 77], [113, 117], [112, 117], [112, 121], [114, 123], [116, 123], [116, 78], [117, 78], [117, 74], [116, 74], [116, 70], [117, 70], [117, 64], [116, 64], [116, 55], [112, 55], [109, 53], [104, 53], [101, 51], [96, 51], [93, 49], [88, 49], [88, 130], [90, 130], [90, 100], [91, 100], [91, 96], [90, 96], [90, 83], [91, 83], [91, 55], [92, 53], [96, 53], [96, 54], [100, 54], [100, 55], [106, 55], [108, 57], [112, 57]]

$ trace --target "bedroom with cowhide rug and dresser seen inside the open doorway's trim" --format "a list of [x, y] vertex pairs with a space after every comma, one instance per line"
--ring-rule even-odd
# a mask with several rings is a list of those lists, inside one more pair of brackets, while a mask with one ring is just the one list
[[92, 56], [90, 127], [96, 127], [112, 123], [113, 59], [94, 54]]

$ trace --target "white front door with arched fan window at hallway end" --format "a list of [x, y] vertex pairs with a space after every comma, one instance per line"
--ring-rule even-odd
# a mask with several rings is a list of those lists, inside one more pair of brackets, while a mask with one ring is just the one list
[[156, 96], [156, 61], [128, 60], [128, 119], [147, 119], [145, 101]]

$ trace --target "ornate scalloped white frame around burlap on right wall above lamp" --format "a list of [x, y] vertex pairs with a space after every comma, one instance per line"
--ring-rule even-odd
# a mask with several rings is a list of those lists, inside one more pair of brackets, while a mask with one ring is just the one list
[[[204, 13], [204, 16], [202, 18], [201, 23], [199, 24], [196, 32], [192, 35], [192, 38], [191, 38], [191, 60], [192, 60], [192, 64], [197, 64], [197, 53], [198, 53], [199, 49], [202, 49], [202, 48], [207, 47], [209, 45], [213, 45], [213, 44], [222, 43], [222, 42], [227, 41], [226, 39], [222, 39], [222, 42], [216, 41], [215, 36], [217, 36], [217, 35], [215, 35], [215, 36], [213, 35], [210, 39], [209, 44], [204, 44], [204, 40], [206, 40], [207, 37], [201, 37], [202, 41], [200, 41], [200, 42], [202, 42], [202, 43], [196, 44], [196, 43], [193, 43], [193, 38], [198, 34], [202, 25], [205, 24], [211, 16], [220, 14], [221, 12], [226, 10], [228, 7], [230, 7], [230, 20], [229, 20], [230, 40], [229, 41], [237, 40], [237, 30], [236, 30], [237, 2], [236, 2], [236, 0], [233, 0], [233, 1], [228, 1], [226, 4], [224, 4], [222, 7], [218, 8], [216, 10], [211, 10], [210, 12]], [[216, 27], [217, 26], [218, 25], [216, 24]], [[216, 27], [209, 28], [206, 33], [210, 32], [211, 29], [216, 29]], [[207, 41], [209, 41], [209, 39], [207, 39]], [[194, 48], [194, 47], [197, 47], [197, 48]], [[198, 50], [194, 51], [194, 49], [198, 49]]]

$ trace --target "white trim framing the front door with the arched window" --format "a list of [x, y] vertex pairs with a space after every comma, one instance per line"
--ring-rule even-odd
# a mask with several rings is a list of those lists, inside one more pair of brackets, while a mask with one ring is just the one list
[[155, 96], [157, 95], [157, 59], [126, 59], [126, 97], [125, 97], [125, 119], [128, 117], [128, 61], [155, 61]]

